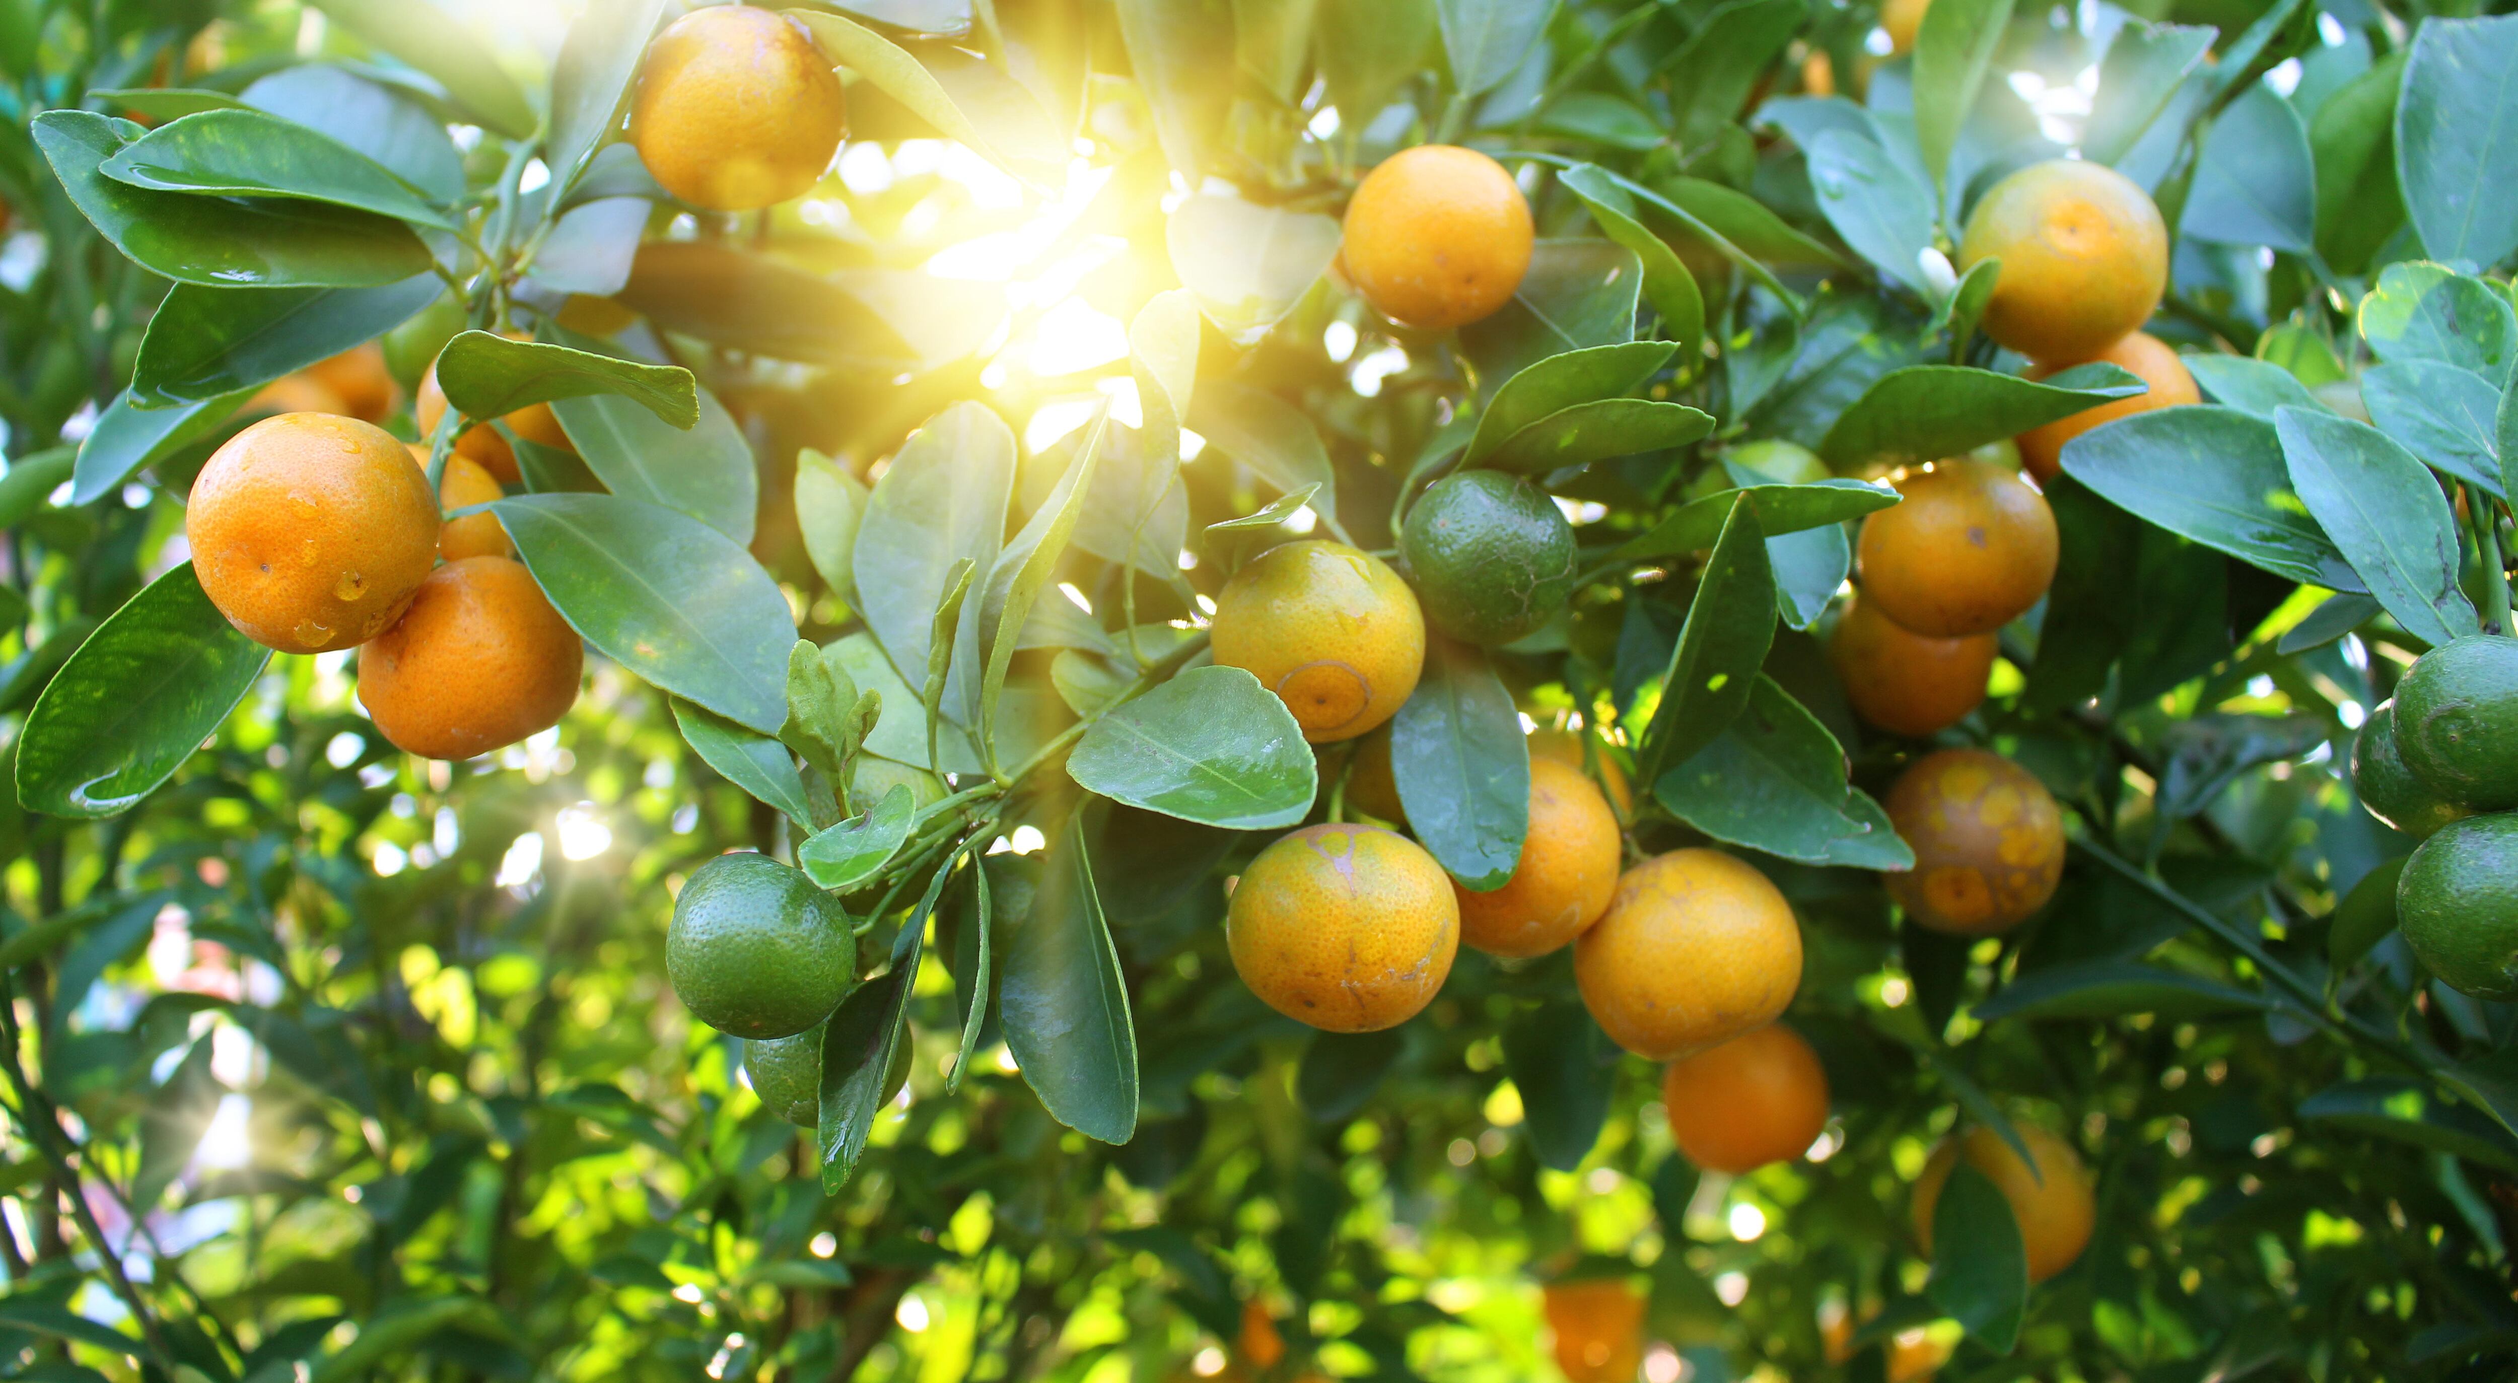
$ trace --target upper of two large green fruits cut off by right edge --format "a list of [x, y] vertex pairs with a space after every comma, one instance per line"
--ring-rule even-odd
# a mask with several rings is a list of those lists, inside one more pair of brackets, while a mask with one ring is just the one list
[[2395, 743], [2447, 801], [2518, 806], [2518, 640], [2473, 635], [2425, 652], [2395, 685]]

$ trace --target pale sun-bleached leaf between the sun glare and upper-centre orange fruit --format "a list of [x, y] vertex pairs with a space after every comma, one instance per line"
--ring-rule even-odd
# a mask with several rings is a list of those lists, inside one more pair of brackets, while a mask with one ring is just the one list
[[1163, 224], [1171, 272], [1236, 345], [1254, 345], [1337, 257], [1337, 222], [1201, 191]]

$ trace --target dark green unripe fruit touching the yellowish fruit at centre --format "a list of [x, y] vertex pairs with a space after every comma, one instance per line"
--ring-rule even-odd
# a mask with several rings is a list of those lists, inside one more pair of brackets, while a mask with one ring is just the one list
[[1503, 471], [1435, 481], [1408, 511], [1400, 554], [1425, 617], [1455, 640], [1513, 642], [1574, 595], [1574, 524]]

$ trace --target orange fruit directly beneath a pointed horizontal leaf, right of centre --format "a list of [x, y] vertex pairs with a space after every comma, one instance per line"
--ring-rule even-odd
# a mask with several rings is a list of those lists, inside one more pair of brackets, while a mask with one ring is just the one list
[[1901, 504], [1863, 519], [1863, 597], [1929, 637], [1989, 635], [2055, 584], [2055, 511], [2014, 471], [1936, 461], [1894, 479]]

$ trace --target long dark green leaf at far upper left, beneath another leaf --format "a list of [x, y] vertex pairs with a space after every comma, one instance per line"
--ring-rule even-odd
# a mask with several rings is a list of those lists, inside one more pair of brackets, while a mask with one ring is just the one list
[[78, 212], [154, 275], [201, 287], [368, 287], [428, 275], [428, 247], [385, 217], [317, 202], [219, 202], [108, 179], [98, 171], [103, 161], [141, 136], [128, 121], [45, 111], [33, 136]]

